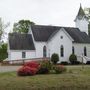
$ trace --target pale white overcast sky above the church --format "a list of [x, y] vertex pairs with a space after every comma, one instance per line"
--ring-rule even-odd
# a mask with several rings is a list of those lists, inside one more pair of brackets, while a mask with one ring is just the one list
[[29, 19], [36, 24], [73, 27], [80, 7], [90, 7], [90, 0], [0, 0], [4, 22]]

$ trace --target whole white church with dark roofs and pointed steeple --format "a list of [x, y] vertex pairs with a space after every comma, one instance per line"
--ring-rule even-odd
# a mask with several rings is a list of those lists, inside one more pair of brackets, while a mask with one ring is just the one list
[[12, 33], [8, 40], [8, 60], [32, 59], [59, 55], [61, 61], [69, 56], [90, 57], [88, 19], [80, 6], [75, 19], [76, 27], [32, 25], [28, 34]]

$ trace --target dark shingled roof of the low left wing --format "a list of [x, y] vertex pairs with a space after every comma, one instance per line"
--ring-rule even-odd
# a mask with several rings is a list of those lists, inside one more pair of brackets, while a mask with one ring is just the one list
[[9, 34], [9, 45], [11, 50], [35, 50], [31, 34]]

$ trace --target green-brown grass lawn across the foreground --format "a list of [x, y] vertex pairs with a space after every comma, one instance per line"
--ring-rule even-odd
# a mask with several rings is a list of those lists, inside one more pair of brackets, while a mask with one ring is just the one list
[[90, 90], [90, 66], [67, 66], [63, 74], [25, 77], [0, 73], [0, 90]]

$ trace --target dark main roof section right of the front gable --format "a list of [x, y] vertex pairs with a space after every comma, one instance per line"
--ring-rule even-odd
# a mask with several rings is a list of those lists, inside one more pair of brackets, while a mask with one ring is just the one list
[[90, 43], [90, 37], [85, 33], [81, 32], [78, 28], [67, 28], [65, 30], [74, 39], [75, 43]]

